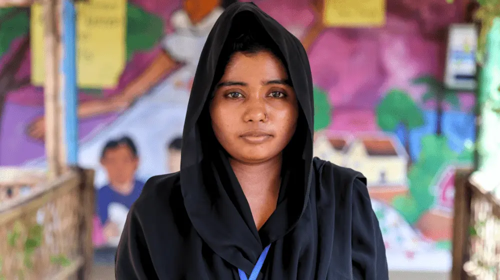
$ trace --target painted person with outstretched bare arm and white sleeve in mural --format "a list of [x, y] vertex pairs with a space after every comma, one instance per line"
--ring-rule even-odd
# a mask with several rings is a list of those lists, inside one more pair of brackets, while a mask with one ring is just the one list
[[[78, 106], [78, 117], [87, 118], [108, 112], [127, 109], [137, 98], [148, 93], [155, 85], [177, 70], [175, 81], [177, 88], [190, 90], [194, 70], [199, 53], [208, 36], [208, 32], [224, 10], [224, 7], [236, 0], [183, 0], [182, 9], [170, 17], [173, 32], [161, 39], [161, 49], [150, 65], [130, 81], [120, 93], [103, 100], [81, 102]], [[178, 90], [162, 90], [161, 99], [181, 101], [187, 96], [170, 96], [169, 92]], [[167, 95], [167, 96], [164, 96]], [[31, 137], [41, 139], [45, 133], [44, 118], [36, 119], [28, 128]]]

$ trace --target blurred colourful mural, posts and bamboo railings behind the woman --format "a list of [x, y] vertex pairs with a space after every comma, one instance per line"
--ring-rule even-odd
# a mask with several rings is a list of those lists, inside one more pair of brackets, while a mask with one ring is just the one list
[[[235, 1], [0, 0], [0, 279], [114, 279]], [[254, 3], [307, 50], [314, 153], [368, 178], [391, 279], [498, 279], [500, 2]]]

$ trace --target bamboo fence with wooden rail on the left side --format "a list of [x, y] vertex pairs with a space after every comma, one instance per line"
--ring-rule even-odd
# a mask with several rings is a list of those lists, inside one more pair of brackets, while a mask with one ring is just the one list
[[29, 193], [0, 202], [0, 279], [88, 278], [93, 171], [73, 168], [50, 182], [10, 175], [0, 191], [18, 185], [29, 185]]

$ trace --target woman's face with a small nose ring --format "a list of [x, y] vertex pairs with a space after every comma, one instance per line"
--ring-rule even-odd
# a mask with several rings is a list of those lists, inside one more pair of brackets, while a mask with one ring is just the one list
[[297, 124], [298, 105], [283, 64], [271, 52], [236, 52], [210, 103], [222, 147], [244, 163], [279, 156]]

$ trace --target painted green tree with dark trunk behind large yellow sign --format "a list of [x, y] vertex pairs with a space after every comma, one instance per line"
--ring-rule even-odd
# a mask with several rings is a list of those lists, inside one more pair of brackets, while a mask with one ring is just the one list
[[[153, 47], [163, 35], [160, 17], [127, 3], [126, 58], [127, 61], [137, 51]], [[29, 85], [30, 76], [15, 77], [29, 51], [29, 9], [19, 7], [0, 8], [0, 57], [8, 54], [12, 42], [20, 38], [19, 46], [0, 69], [0, 124], [2, 110], [8, 92]], [[85, 90], [100, 93], [100, 90]], [[0, 127], [1, 128], [1, 127]], [[0, 130], [1, 131], [1, 130]]]

